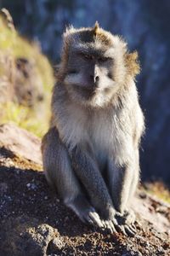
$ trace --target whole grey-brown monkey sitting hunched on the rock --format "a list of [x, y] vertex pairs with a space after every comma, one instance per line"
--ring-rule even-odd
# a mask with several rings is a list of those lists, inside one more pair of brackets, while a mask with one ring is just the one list
[[144, 114], [135, 76], [137, 52], [93, 27], [67, 27], [42, 138], [48, 183], [87, 224], [111, 233], [135, 234], [130, 201], [139, 183]]

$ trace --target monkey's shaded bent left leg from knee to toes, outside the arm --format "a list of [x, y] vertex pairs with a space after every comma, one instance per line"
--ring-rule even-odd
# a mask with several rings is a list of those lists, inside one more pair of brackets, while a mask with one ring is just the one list
[[71, 168], [68, 152], [59, 139], [56, 128], [52, 128], [42, 139], [42, 160], [48, 180], [58, 191], [59, 197], [83, 222], [102, 227], [103, 224], [94, 207], [89, 203]]

